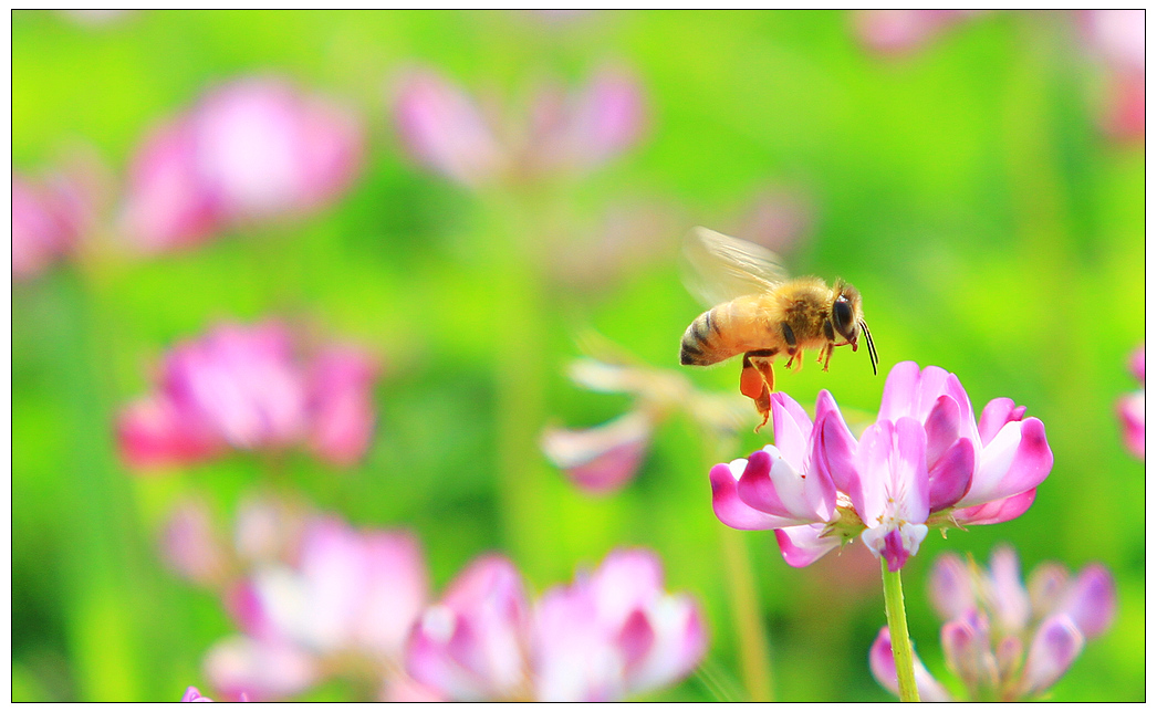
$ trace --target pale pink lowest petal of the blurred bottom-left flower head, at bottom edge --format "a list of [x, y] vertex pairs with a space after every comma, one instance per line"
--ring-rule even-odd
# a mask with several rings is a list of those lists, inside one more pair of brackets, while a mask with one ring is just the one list
[[213, 689], [223, 697], [244, 695], [255, 702], [293, 697], [320, 678], [318, 661], [301, 648], [242, 636], [209, 648], [204, 668]]

